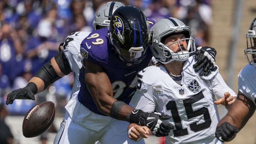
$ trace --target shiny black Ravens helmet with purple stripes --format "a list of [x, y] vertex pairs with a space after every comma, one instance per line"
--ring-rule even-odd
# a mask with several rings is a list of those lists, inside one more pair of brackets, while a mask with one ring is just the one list
[[114, 11], [109, 30], [111, 44], [119, 57], [132, 66], [142, 61], [150, 39], [150, 27], [145, 15], [134, 6], [122, 6]]

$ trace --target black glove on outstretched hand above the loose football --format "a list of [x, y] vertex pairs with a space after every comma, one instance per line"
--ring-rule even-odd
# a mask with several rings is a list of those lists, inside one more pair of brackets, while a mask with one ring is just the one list
[[15, 99], [29, 99], [29, 100], [35, 100], [34, 94], [37, 92], [37, 87], [36, 90], [34, 89], [35, 84], [30, 82], [28, 85], [22, 89], [17, 89], [12, 92], [10, 92], [7, 95], [6, 98], [6, 105], [9, 103], [12, 104]]

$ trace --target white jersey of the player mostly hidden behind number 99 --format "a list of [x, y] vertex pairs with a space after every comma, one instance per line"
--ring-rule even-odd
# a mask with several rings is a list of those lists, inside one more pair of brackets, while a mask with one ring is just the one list
[[90, 32], [73, 32], [66, 38], [63, 45], [63, 52], [68, 59], [71, 70], [74, 71], [74, 85], [70, 96], [80, 89], [79, 73], [82, 68], [80, 44], [89, 34]]

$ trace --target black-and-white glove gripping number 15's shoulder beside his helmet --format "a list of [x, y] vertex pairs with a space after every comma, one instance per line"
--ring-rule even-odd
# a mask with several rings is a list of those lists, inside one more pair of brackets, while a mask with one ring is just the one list
[[208, 76], [210, 71], [214, 71], [216, 54], [216, 50], [212, 47], [198, 47], [195, 58], [197, 62], [193, 65], [194, 70], [197, 72], [203, 68], [199, 75]]

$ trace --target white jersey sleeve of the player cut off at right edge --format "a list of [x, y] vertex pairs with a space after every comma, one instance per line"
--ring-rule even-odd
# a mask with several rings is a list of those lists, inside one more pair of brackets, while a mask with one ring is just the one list
[[256, 68], [247, 64], [238, 75], [238, 91], [250, 98], [254, 104], [256, 98]]

